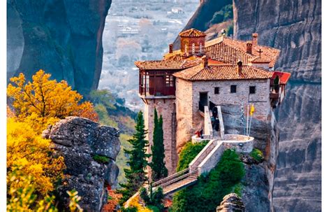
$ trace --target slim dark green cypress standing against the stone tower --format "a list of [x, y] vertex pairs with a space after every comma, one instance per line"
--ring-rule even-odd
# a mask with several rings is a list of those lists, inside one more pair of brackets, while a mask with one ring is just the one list
[[163, 145], [163, 118], [158, 118], [156, 108], [154, 108], [154, 132], [152, 146], [152, 180], [158, 181], [168, 176], [168, 169], [164, 162], [164, 145]]

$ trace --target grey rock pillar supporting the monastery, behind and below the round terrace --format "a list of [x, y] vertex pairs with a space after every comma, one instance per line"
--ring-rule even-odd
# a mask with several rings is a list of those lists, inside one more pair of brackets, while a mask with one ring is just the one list
[[[237, 105], [221, 105], [226, 134], [244, 134], [245, 122]], [[254, 148], [263, 151], [265, 160], [260, 164], [244, 161], [245, 176], [242, 188], [242, 202], [247, 211], [270, 211], [272, 208], [272, 190], [274, 188], [274, 171], [277, 164], [279, 130], [274, 113], [270, 120], [252, 119], [251, 134]]]

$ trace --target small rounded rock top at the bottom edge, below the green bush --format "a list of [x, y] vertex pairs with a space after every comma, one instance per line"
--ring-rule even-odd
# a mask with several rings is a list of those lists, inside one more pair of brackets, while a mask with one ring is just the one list
[[216, 212], [244, 212], [245, 206], [240, 198], [235, 193], [230, 193], [223, 197], [223, 201], [217, 207]]

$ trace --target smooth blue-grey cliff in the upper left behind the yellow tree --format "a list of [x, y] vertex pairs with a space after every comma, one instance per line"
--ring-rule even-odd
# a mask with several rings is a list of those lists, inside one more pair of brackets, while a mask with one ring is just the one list
[[82, 94], [98, 87], [111, 0], [7, 0], [7, 76], [43, 69]]

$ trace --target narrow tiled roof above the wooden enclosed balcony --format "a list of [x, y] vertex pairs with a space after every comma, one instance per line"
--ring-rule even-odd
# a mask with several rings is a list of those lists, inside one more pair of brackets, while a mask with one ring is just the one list
[[186, 69], [192, 66], [200, 64], [201, 59], [181, 59], [181, 60], [149, 60], [149, 61], [137, 61], [135, 65], [139, 69], [144, 70], [170, 70], [170, 69]]

